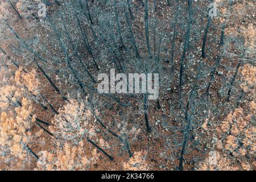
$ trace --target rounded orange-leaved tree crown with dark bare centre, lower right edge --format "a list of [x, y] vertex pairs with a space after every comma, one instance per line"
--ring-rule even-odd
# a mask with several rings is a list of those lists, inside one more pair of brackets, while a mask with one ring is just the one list
[[[247, 155], [254, 159], [256, 150], [255, 134], [256, 128], [253, 125], [252, 115], [245, 115], [241, 107], [228, 114], [228, 117], [217, 129], [220, 140], [217, 142], [219, 150], [232, 153], [233, 159], [240, 161], [242, 169], [249, 170], [255, 168], [250, 163]], [[252, 164], [252, 165], [251, 165]]]

